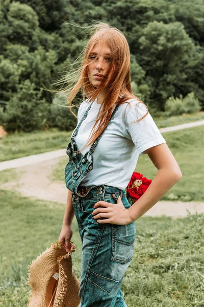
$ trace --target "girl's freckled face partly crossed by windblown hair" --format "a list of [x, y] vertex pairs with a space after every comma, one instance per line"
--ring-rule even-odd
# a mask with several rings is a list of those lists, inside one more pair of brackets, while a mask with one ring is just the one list
[[[93, 86], [97, 87], [108, 73], [111, 65], [111, 50], [106, 43], [98, 43], [89, 54], [88, 77]], [[101, 75], [101, 76], [100, 76]]]

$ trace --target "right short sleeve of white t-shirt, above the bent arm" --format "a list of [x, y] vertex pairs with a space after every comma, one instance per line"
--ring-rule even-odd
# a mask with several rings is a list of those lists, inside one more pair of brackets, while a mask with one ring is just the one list
[[134, 122], [146, 113], [146, 106], [134, 99], [130, 101], [130, 105], [127, 104], [124, 114], [124, 136], [132, 139], [140, 156], [144, 155], [146, 149], [166, 143], [149, 113], [140, 121]]

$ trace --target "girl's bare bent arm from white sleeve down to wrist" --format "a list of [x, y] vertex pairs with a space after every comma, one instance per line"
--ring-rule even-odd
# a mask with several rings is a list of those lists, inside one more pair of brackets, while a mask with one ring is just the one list
[[145, 153], [157, 167], [157, 174], [145, 193], [128, 210], [132, 221], [136, 221], [182, 178], [182, 172], [166, 143], [148, 148]]

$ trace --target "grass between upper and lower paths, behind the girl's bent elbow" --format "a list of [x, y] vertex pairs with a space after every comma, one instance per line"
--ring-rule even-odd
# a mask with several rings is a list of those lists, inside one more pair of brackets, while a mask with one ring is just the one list
[[[168, 147], [179, 164], [183, 177], [162, 198], [162, 200], [204, 201], [203, 190], [203, 148], [204, 126], [193, 127], [163, 134]], [[68, 156], [61, 158], [53, 171], [53, 180], [64, 182], [64, 168]], [[135, 171], [148, 179], [154, 179], [157, 168], [147, 155], [139, 156]]]

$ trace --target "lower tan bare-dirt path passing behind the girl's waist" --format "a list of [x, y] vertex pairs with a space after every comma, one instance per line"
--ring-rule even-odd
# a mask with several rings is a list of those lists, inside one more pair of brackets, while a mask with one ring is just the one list
[[[50, 175], [58, 162], [59, 158], [56, 158], [16, 168], [15, 171], [19, 180], [3, 184], [1, 188], [16, 190], [25, 196], [58, 202], [65, 206], [67, 200], [65, 184], [50, 181]], [[204, 203], [160, 201], [148, 210], [145, 215], [167, 215], [176, 218], [187, 216], [188, 212], [191, 214], [196, 212], [203, 213]]]

